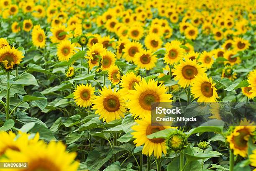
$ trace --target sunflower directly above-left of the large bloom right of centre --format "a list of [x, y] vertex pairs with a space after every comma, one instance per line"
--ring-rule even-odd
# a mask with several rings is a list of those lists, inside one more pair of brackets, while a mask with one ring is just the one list
[[179, 47], [178, 43], [166, 44], [165, 48], [167, 53], [164, 56], [164, 61], [166, 64], [178, 63], [185, 53], [184, 48]]

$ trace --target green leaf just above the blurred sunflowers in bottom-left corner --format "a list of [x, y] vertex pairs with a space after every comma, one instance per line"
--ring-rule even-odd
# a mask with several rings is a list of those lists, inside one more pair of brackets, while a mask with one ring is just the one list
[[39, 125], [38, 123], [36, 123], [35, 126], [31, 130], [29, 130], [29, 133], [39, 133], [40, 139], [43, 140], [56, 140], [53, 133], [48, 128], [43, 125]]

